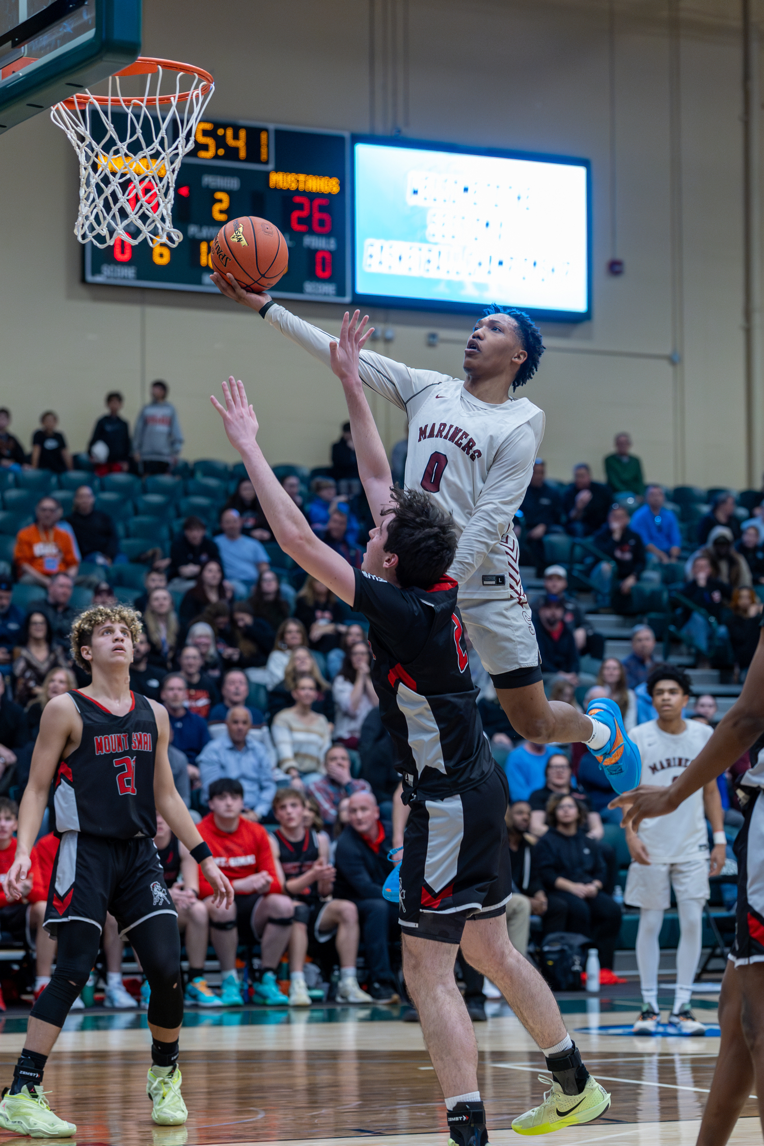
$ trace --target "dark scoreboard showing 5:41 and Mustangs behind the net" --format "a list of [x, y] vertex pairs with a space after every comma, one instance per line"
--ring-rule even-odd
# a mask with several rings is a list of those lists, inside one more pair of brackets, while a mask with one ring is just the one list
[[[210, 244], [228, 219], [259, 215], [286, 240], [275, 298], [351, 299], [349, 135], [250, 121], [203, 120], [175, 183], [183, 241], [84, 249], [87, 283], [218, 293]], [[151, 182], [141, 187], [150, 203]]]

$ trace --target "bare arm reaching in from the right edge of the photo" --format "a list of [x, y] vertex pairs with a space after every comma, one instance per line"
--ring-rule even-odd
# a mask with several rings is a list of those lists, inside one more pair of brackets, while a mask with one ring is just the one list
[[[714, 736], [668, 787], [639, 787], [624, 792], [608, 804], [624, 808], [623, 823], [636, 830], [646, 817], [668, 816], [699, 788], [740, 760], [743, 752], [764, 732], [764, 630], [750, 662], [742, 692], [723, 716]], [[755, 763], [755, 761], [754, 761]]]

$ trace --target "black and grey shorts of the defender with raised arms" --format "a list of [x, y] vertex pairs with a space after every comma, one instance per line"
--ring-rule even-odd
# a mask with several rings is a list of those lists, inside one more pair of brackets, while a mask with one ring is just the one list
[[503, 916], [512, 895], [501, 768], [444, 800], [412, 800], [403, 835], [399, 923], [407, 935], [462, 941], [468, 919]]

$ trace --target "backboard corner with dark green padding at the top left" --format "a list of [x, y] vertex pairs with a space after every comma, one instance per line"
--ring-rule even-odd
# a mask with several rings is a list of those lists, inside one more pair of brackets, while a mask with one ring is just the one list
[[140, 50], [141, 0], [0, 0], [0, 134]]

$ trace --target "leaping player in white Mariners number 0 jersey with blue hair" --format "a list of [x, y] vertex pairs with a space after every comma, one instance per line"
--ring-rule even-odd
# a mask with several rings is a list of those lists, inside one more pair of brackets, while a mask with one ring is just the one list
[[[242, 290], [230, 274], [211, 277], [227, 298], [249, 306], [330, 366], [332, 338], [325, 331], [268, 295]], [[512, 728], [536, 744], [583, 740], [606, 766], [608, 778], [611, 766], [619, 777], [631, 775], [636, 753], [625, 739], [617, 706], [601, 705], [598, 719], [591, 720], [544, 696], [512, 529], [544, 433], [544, 414], [527, 398], [510, 397], [533, 377], [544, 346], [521, 311], [488, 309], [464, 352], [466, 382], [368, 350], [361, 353], [361, 379], [405, 411], [407, 487], [426, 489], [454, 516], [459, 541], [449, 574], [458, 581], [462, 617]], [[637, 776], [614, 786], [631, 787]]]

